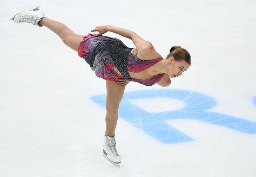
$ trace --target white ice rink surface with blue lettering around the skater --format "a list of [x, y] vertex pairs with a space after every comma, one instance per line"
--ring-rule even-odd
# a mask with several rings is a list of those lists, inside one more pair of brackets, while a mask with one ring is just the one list
[[[37, 5], [78, 34], [113, 25], [163, 58], [190, 52], [169, 87], [127, 85], [120, 169], [102, 157], [105, 81], [46, 27], [9, 20]], [[2, 0], [0, 14], [1, 177], [256, 176], [256, 0]]]

